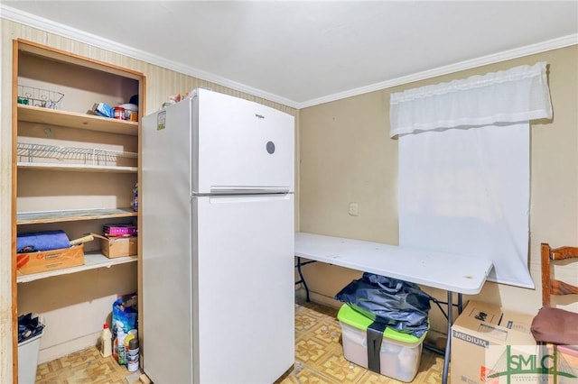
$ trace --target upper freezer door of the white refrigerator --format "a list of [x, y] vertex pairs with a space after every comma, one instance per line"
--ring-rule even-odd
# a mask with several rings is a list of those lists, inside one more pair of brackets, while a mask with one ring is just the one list
[[[294, 117], [199, 89], [192, 103], [192, 190], [284, 187], [294, 191]], [[198, 111], [198, 113], [197, 113]], [[194, 165], [198, 164], [198, 167]]]

